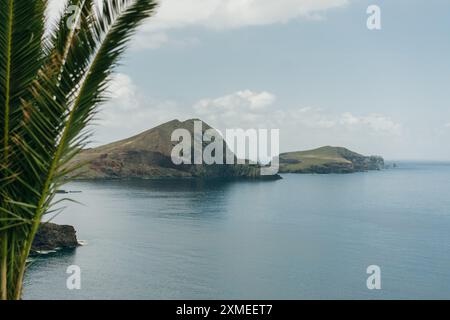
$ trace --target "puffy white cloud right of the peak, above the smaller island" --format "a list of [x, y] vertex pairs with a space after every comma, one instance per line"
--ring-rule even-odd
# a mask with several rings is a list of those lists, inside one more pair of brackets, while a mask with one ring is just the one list
[[365, 130], [373, 135], [399, 136], [402, 126], [382, 114], [357, 116], [350, 112], [332, 114], [321, 108], [303, 107], [283, 110], [274, 105], [276, 96], [270, 92], [238, 91], [218, 98], [198, 101], [194, 110], [205, 121], [221, 127], [286, 127], [303, 129]]

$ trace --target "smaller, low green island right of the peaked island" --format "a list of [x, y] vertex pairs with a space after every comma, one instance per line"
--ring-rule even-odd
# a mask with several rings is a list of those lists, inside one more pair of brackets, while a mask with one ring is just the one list
[[382, 157], [367, 157], [342, 147], [280, 154], [280, 173], [354, 173], [382, 169]]

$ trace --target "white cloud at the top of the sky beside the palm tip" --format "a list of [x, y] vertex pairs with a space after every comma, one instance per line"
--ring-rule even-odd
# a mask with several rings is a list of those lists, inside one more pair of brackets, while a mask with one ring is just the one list
[[[65, 3], [50, 0], [50, 21], [54, 21]], [[133, 47], [157, 49], [166, 44], [196, 44], [196, 39], [169, 39], [168, 30], [184, 27], [221, 30], [286, 23], [296, 18], [323, 20], [326, 10], [349, 3], [350, 0], [162, 0], [155, 16], [141, 28]]]

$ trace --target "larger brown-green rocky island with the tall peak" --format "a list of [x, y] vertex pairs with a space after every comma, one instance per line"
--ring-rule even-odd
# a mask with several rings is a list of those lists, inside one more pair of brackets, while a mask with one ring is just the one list
[[[137, 136], [84, 150], [72, 164], [86, 163], [86, 166], [75, 175], [78, 179], [263, 178], [260, 167], [252, 164], [175, 165], [171, 153], [178, 142], [171, 141], [171, 135], [176, 129], [186, 129], [194, 137], [194, 121], [199, 120], [170, 121]], [[208, 129], [212, 128], [203, 122], [203, 133]], [[224, 155], [226, 150], [224, 142]]]

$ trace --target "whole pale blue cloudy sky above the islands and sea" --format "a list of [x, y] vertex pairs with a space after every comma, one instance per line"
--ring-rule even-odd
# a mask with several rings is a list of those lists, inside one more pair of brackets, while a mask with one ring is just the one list
[[[282, 152], [450, 160], [450, 1], [160, 2], [114, 76], [94, 145], [200, 118], [280, 129]], [[367, 28], [370, 5], [380, 30]]]

